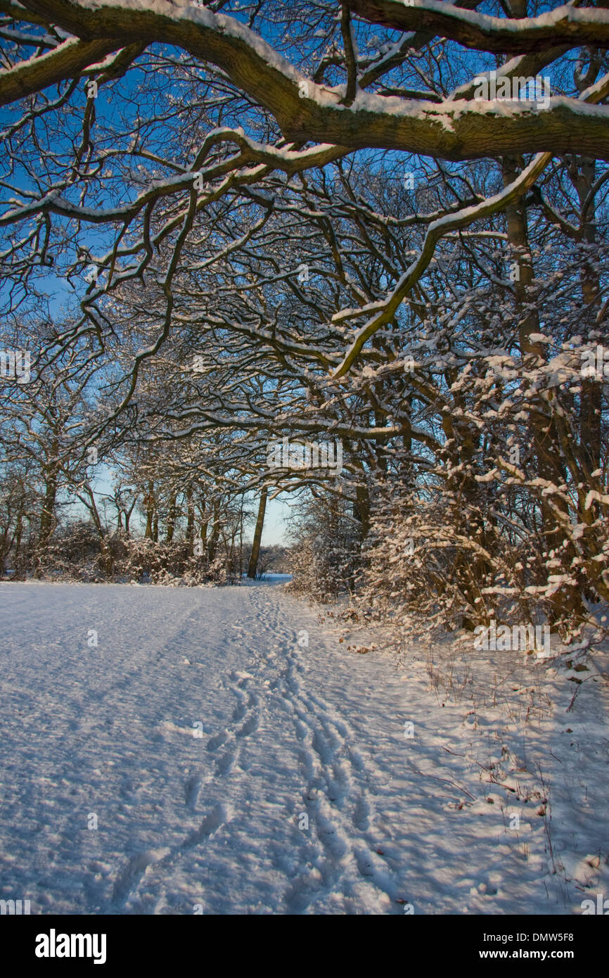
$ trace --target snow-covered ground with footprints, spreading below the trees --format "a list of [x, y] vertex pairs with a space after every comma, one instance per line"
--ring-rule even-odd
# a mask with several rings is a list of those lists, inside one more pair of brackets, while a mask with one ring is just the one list
[[577, 684], [546, 664], [478, 656], [476, 680], [413, 650], [397, 668], [273, 583], [8, 583], [0, 602], [0, 898], [416, 914], [609, 896], [593, 671], [567, 713]]

